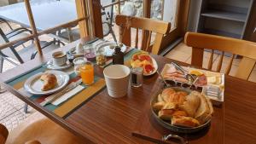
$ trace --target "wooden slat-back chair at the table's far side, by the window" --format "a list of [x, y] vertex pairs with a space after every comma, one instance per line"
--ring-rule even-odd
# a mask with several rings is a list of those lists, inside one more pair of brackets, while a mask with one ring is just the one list
[[[121, 43], [131, 46], [131, 28], [136, 28], [136, 37], [134, 38], [135, 48], [138, 48], [138, 34], [139, 29], [141, 29], [144, 33], [141, 49], [151, 52], [154, 55], [158, 55], [162, 39], [167, 32], [170, 32], [171, 29], [171, 23], [169, 22], [126, 16], [122, 14], [116, 15], [115, 22], [120, 27], [119, 37]], [[153, 48], [150, 46], [152, 32], [156, 33]], [[148, 37], [145, 33], [148, 33]]]

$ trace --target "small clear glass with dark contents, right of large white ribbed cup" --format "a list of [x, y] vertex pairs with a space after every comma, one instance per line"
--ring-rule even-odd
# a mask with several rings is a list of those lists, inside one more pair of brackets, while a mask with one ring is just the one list
[[131, 68], [131, 86], [140, 87], [143, 85], [143, 67]]

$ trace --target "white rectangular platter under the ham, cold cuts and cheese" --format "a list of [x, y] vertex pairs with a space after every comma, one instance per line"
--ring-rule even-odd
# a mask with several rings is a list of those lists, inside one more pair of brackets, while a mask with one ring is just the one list
[[[167, 69], [170, 68], [172, 66], [172, 64], [166, 64], [161, 72], [161, 75], [164, 77], [164, 74], [166, 73]], [[210, 99], [214, 100], [212, 101], [213, 105], [220, 105], [222, 102], [224, 102], [224, 73], [219, 73], [219, 72], [211, 72], [211, 71], [207, 71], [207, 70], [201, 70], [201, 69], [197, 69], [197, 68], [193, 68], [193, 67], [189, 67], [189, 66], [182, 66], [183, 69], [187, 70], [187, 71], [200, 71], [203, 72], [206, 76], [216, 76], [217, 78], [220, 78], [220, 84], [207, 84], [206, 86], [202, 86], [202, 92], [206, 94], [207, 91], [207, 86], [216, 86], [218, 87], [221, 91], [219, 93], [219, 97], [215, 97], [215, 96], [211, 96], [211, 95], [207, 95]]]

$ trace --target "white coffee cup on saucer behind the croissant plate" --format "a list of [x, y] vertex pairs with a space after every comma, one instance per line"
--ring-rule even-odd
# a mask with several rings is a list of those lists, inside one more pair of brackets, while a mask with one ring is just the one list
[[67, 55], [62, 51], [56, 51], [52, 54], [52, 61], [55, 66], [63, 66], [67, 63]]

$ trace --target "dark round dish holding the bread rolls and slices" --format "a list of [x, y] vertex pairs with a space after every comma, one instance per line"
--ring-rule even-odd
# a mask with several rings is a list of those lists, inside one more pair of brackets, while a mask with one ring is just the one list
[[[172, 89], [175, 89], [176, 91], [185, 91], [187, 93], [191, 92], [191, 90], [189, 90], [189, 89], [182, 89], [182, 88], [179, 88], [179, 87], [172, 87]], [[163, 89], [161, 89], [157, 93], [157, 95], [154, 95], [151, 98], [151, 101], [150, 101], [150, 107], [151, 107], [151, 112], [153, 114], [153, 117], [156, 119], [156, 121], [161, 126], [165, 127], [168, 130], [172, 130], [173, 132], [189, 134], [189, 133], [197, 132], [199, 130], [207, 129], [207, 127], [211, 125], [211, 119], [209, 119], [205, 124], [201, 124], [200, 126], [197, 126], [197, 127], [194, 127], [194, 128], [187, 128], [187, 127], [181, 127], [181, 126], [172, 125], [171, 121], [167, 122], [167, 121], [164, 121], [161, 118], [159, 118], [157, 113], [156, 113], [156, 111], [154, 111], [153, 106], [154, 106], [154, 103], [157, 102], [157, 96], [162, 92], [162, 90]]]

